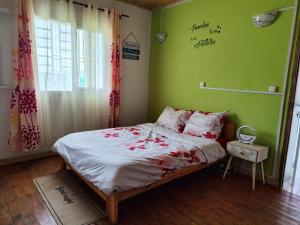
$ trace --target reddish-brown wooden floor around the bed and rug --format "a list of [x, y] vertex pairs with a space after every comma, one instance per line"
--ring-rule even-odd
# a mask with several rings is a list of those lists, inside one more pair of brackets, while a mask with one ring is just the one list
[[[56, 172], [60, 163], [51, 157], [0, 167], [1, 225], [55, 224], [32, 179]], [[229, 175], [223, 181], [221, 173], [208, 169], [122, 202], [119, 221], [120, 225], [300, 224], [300, 197], [260, 183], [252, 192], [247, 177]]]

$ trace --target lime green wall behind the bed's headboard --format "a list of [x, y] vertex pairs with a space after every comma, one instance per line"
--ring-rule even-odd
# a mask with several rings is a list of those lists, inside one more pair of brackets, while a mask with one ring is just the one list
[[[281, 97], [200, 90], [209, 87], [282, 91], [293, 11], [282, 13], [266, 28], [255, 27], [254, 14], [293, 5], [293, 0], [192, 0], [164, 10], [167, 40], [158, 44], [160, 12], [153, 12], [149, 116], [155, 121], [163, 108], [229, 111], [237, 125], [257, 129], [257, 143], [270, 146], [266, 162], [272, 174]], [[209, 23], [192, 33], [193, 24]], [[209, 34], [221, 26], [221, 33]], [[213, 38], [215, 45], [196, 49], [198, 39]]]

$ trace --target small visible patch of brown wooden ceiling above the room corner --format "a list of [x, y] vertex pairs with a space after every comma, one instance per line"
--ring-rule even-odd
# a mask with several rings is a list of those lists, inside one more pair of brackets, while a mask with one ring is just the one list
[[177, 3], [182, 0], [118, 0], [118, 1], [151, 10], [155, 8], [168, 6], [170, 4]]

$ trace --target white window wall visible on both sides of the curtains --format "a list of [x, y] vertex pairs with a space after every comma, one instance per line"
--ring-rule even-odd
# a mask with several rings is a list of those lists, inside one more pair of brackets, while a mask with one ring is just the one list
[[[81, 0], [83, 3], [97, 0]], [[150, 11], [114, 0], [98, 0], [103, 8], [117, 8], [129, 18], [122, 19], [122, 37], [133, 32], [141, 44], [139, 61], [123, 60], [121, 92], [121, 124], [134, 125], [147, 122], [148, 117], [148, 71], [151, 38]], [[10, 1], [7, 1], [10, 3]], [[3, 5], [0, 5], [3, 7]], [[1, 21], [1, 20], [0, 20]], [[2, 35], [2, 32], [0, 33]], [[8, 150], [9, 91], [0, 89], [0, 160], [24, 155]], [[37, 152], [33, 152], [37, 153]], [[32, 153], [27, 153], [32, 154]]]

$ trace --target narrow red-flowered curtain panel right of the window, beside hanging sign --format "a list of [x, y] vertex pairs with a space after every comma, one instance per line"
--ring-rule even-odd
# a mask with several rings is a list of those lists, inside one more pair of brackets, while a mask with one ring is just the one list
[[120, 86], [121, 86], [121, 43], [120, 43], [120, 12], [115, 9], [110, 10], [109, 20], [112, 28], [112, 45], [111, 45], [111, 77], [110, 77], [110, 94], [109, 94], [109, 127], [120, 125]]

